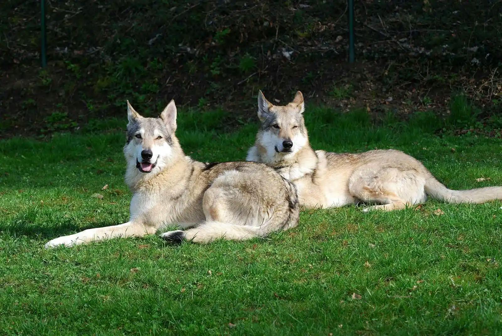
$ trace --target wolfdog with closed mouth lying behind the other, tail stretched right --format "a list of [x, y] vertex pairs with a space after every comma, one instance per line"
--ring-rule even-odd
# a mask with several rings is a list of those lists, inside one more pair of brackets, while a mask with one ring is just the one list
[[286, 106], [275, 106], [258, 95], [262, 122], [247, 161], [275, 167], [295, 183], [306, 208], [372, 203], [364, 211], [402, 209], [425, 202], [427, 196], [451, 203], [482, 203], [502, 198], [502, 187], [451, 190], [417, 159], [397, 150], [360, 154], [314, 151], [303, 119], [305, 103], [298, 91]]

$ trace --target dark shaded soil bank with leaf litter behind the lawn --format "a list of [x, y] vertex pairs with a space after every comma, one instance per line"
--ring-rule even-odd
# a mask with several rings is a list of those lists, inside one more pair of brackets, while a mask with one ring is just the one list
[[344, 1], [47, 0], [0, 5], [0, 137], [73, 130], [123, 117], [126, 99], [153, 116], [172, 98], [255, 118], [258, 89], [286, 103], [406, 117], [447, 114], [466, 93], [481, 118], [502, 110], [502, 2], [356, 1], [347, 59]]

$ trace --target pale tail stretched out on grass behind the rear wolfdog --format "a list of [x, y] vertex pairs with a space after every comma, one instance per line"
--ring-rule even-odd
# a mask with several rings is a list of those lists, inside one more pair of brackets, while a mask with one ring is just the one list
[[432, 198], [448, 203], [483, 203], [502, 198], [502, 187], [451, 190], [432, 175], [425, 182], [425, 192]]

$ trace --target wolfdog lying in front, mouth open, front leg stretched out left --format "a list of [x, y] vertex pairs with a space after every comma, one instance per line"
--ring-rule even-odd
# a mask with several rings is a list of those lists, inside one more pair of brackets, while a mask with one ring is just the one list
[[255, 162], [202, 163], [185, 156], [172, 100], [160, 118], [143, 118], [128, 101], [126, 183], [133, 192], [128, 222], [84, 230], [48, 242], [72, 246], [115, 237], [142, 237], [166, 225], [167, 241], [244, 240], [295, 227], [299, 204], [293, 183]]

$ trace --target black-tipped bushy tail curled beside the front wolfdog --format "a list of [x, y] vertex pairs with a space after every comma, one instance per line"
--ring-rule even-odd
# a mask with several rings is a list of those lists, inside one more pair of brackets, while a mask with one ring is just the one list
[[186, 231], [176, 230], [166, 232], [161, 237], [167, 241], [181, 243], [183, 240], [194, 243], [209, 243], [216, 239], [226, 240], [247, 240], [255, 237], [265, 237], [269, 234], [268, 225], [259, 227], [224, 223], [220, 221], [208, 220], [195, 228]]

